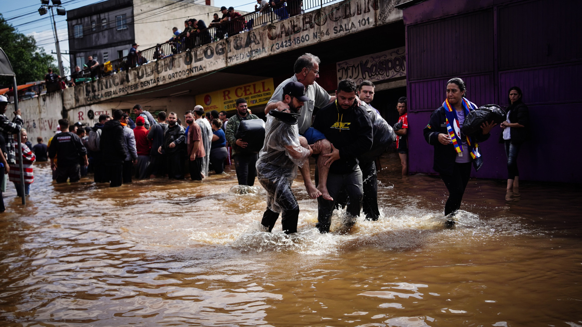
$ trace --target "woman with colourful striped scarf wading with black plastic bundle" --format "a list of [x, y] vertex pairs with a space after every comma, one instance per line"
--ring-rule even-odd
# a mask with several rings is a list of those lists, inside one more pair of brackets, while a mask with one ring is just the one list
[[[471, 163], [478, 170], [482, 158], [478, 143], [486, 141], [489, 131], [495, 126], [493, 122], [485, 122], [481, 130], [472, 135], [464, 135], [463, 122], [469, 112], [477, 109], [477, 105], [467, 100], [464, 95], [466, 86], [462, 79], [450, 79], [446, 83], [446, 99], [441, 108], [431, 114], [427, 127], [424, 127], [424, 138], [434, 146], [433, 169], [441, 174], [449, 198], [445, 204], [445, 227], [455, 225], [454, 216], [461, 207], [465, 187], [471, 175]], [[449, 216], [450, 215], [450, 216]]]

